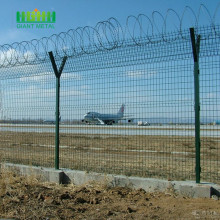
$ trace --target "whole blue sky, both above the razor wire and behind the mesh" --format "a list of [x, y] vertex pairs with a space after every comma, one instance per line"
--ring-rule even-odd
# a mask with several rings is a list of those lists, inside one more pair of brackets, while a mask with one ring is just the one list
[[[9, 0], [0, 1], [0, 3], [0, 45], [41, 39], [77, 27], [94, 27], [97, 22], [111, 17], [116, 18], [124, 27], [129, 15], [145, 14], [151, 18], [154, 16], [155, 25], [161, 27], [159, 14], [153, 13], [154, 11], [165, 16], [167, 10], [171, 8], [181, 17], [185, 6], [190, 6], [198, 14], [200, 4], [204, 4], [210, 14], [214, 15], [217, 6], [220, 6], [220, 1], [217, 0]], [[54, 29], [17, 28], [16, 12], [34, 9], [55, 11]], [[218, 9], [217, 18], [219, 18], [220, 7]], [[185, 12], [183, 18], [183, 28], [194, 25], [194, 20], [188, 12]], [[206, 12], [203, 11], [201, 15], [199, 24], [210, 24]], [[175, 16], [168, 17], [167, 23], [170, 26], [167, 28], [170, 31], [175, 31], [178, 26], [178, 22], [173, 18]], [[96, 58], [102, 59], [101, 56]], [[91, 60], [95, 63], [96, 58]], [[176, 69], [170, 65], [166, 62], [128, 65], [106, 70], [99, 68], [85, 73], [84, 71], [69, 72], [72, 67], [70, 63], [67, 64], [61, 77], [63, 119], [80, 119], [88, 111], [116, 113], [120, 105], [125, 103], [127, 104], [126, 113], [134, 115], [135, 118], [179, 117], [186, 122], [188, 118], [193, 118], [193, 78], [190, 72], [192, 65], [189, 64], [187, 71], [183, 68], [187, 64], [181, 61], [173, 63]], [[203, 112], [202, 116], [214, 120], [220, 117], [220, 101], [217, 99], [220, 82], [219, 58], [213, 59], [212, 65], [211, 68], [215, 71], [213, 77], [210, 77], [211, 73], [201, 77], [203, 86], [201, 97], [206, 100], [203, 109], [209, 112], [208, 114]], [[25, 75], [32, 71], [42, 74], [0, 82], [2, 118], [54, 119], [55, 78], [52, 70], [39, 66], [31, 68], [27, 69], [25, 66], [12, 68], [10, 73], [14, 71]], [[171, 68], [170, 71], [169, 68]], [[181, 68], [181, 71], [176, 71]], [[175, 74], [179, 77], [175, 78]], [[209, 82], [208, 87], [205, 85], [207, 82]], [[214, 82], [216, 84], [212, 87]], [[183, 102], [175, 103], [175, 100]], [[43, 106], [45, 103], [46, 106]]]

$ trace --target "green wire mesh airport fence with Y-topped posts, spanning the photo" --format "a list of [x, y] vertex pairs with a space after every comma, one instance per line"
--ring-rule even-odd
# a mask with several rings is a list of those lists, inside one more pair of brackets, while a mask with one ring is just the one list
[[0, 46], [1, 161], [220, 183], [220, 26], [143, 18]]

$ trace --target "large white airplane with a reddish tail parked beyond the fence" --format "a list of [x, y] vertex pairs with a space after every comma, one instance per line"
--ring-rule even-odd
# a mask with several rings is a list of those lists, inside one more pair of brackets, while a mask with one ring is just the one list
[[[126, 118], [124, 118], [124, 109], [125, 105], [122, 104], [117, 114], [101, 114], [98, 112], [88, 112], [84, 115], [84, 119], [82, 120], [82, 122], [85, 122], [86, 124], [98, 123], [102, 125], [112, 125], [118, 123], [119, 120], [126, 120]], [[132, 119], [128, 119], [128, 122], [131, 121]]]

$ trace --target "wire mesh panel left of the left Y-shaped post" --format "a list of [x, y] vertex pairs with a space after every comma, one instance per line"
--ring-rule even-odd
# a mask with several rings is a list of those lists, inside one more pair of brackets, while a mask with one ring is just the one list
[[46, 67], [2, 69], [0, 151], [4, 161], [54, 165], [55, 79]]

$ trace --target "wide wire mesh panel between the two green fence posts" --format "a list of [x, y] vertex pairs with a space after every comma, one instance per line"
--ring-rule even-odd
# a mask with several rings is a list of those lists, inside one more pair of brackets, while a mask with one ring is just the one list
[[61, 167], [193, 178], [193, 62], [184, 54], [190, 42], [183, 44], [169, 61], [165, 55], [179, 44], [143, 44], [86, 56], [87, 62], [67, 61], [61, 77]]

